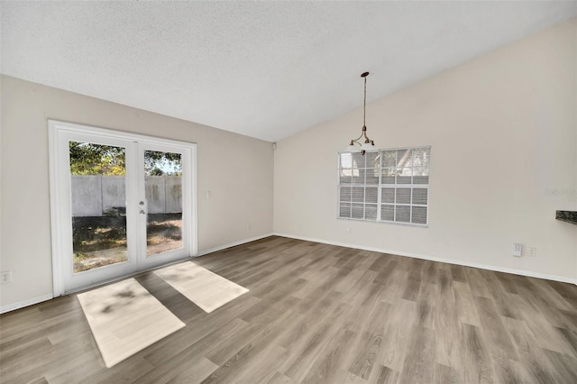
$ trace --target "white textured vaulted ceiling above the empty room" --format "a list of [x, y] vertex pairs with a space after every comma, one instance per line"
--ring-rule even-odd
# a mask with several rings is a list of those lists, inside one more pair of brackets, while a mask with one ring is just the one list
[[[3, 2], [5, 75], [279, 141], [577, 2]], [[360, 116], [361, 123], [361, 116]]]

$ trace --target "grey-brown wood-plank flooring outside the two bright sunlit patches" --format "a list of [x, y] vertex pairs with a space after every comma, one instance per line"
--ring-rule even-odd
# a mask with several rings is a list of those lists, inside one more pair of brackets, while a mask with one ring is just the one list
[[107, 369], [76, 295], [0, 316], [0, 382], [577, 383], [577, 287], [268, 237], [195, 259], [250, 292]]

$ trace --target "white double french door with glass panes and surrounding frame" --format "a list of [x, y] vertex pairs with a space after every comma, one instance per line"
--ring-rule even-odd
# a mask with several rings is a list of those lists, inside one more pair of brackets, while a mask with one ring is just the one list
[[49, 121], [54, 295], [194, 256], [196, 145]]

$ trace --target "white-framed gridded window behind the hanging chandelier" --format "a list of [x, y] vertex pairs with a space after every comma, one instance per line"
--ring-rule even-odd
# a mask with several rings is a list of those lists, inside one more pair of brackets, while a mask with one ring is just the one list
[[338, 217], [428, 224], [430, 147], [339, 153]]

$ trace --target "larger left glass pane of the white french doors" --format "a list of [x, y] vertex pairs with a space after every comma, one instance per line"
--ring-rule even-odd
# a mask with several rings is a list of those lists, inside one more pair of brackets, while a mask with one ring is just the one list
[[69, 141], [74, 273], [128, 261], [126, 149]]

